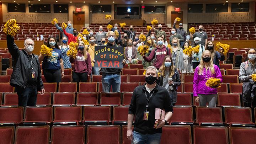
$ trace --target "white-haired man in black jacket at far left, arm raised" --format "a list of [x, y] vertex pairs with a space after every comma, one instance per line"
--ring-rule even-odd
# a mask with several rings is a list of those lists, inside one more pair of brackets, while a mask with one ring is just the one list
[[10, 85], [16, 88], [18, 106], [36, 106], [37, 91], [41, 91], [43, 95], [45, 90], [38, 55], [32, 53], [34, 41], [30, 38], [26, 39], [24, 49], [19, 50], [14, 38], [7, 35], [7, 47], [14, 59]]

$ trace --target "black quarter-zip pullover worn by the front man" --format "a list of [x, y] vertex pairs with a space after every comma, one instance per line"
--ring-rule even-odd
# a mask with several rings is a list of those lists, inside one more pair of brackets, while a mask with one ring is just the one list
[[[143, 120], [144, 111], [146, 111], [146, 105], [148, 101], [146, 100], [145, 93], [148, 97], [154, 92], [149, 101], [149, 118], [148, 121]], [[165, 113], [172, 112], [172, 102], [171, 97], [169, 96], [168, 91], [159, 85], [156, 84], [154, 90], [148, 93], [146, 91], [145, 84], [138, 86], [134, 89], [132, 100], [129, 107], [129, 114], [135, 115], [135, 124], [134, 130], [142, 134], [155, 134], [161, 133], [162, 128], [155, 129], [155, 109], [160, 108], [165, 110]]]

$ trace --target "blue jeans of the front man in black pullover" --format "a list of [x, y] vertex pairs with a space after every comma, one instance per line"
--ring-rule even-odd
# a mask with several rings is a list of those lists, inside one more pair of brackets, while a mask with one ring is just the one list
[[160, 144], [162, 133], [141, 134], [133, 131], [132, 144]]

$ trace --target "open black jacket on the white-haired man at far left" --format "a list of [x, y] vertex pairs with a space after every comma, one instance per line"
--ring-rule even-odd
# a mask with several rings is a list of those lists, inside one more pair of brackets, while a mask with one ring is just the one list
[[[28, 74], [31, 73], [30, 59], [27, 52], [22, 49], [19, 50], [14, 42], [14, 38], [10, 35], [6, 36], [7, 48], [14, 59], [14, 70], [11, 75], [10, 85], [13, 87], [20, 86], [25, 88], [27, 85]], [[32, 54], [36, 58], [38, 64], [38, 76], [37, 76], [37, 90], [41, 91], [44, 88], [41, 78], [41, 68], [38, 60], [38, 55]]]

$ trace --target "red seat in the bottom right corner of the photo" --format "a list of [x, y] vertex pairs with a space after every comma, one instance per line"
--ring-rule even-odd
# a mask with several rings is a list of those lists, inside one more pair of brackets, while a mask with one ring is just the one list
[[256, 142], [256, 128], [229, 127], [230, 144], [248, 144]]

